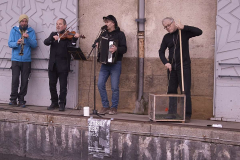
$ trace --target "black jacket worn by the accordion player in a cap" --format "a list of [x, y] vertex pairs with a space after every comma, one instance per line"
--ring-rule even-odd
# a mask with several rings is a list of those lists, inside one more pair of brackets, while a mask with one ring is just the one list
[[118, 46], [116, 46], [117, 52], [118, 52], [117, 61], [122, 61], [123, 54], [127, 52], [127, 44], [126, 44], [125, 34], [122, 31], [120, 31], [119, 27], [117, 27], [112, 32], [105, 31], [102, 34], [102, 37], [107, 37], [109, 40], [117, 40], [118, 41]]

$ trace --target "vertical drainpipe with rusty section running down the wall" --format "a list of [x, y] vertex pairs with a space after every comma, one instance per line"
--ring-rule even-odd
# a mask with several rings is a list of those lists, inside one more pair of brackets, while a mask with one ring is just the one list
[[144, 31], [145, 31], [145, 0], [138, 1], [138, 98], [134, 113], [143, 114], [143, 82], [144, 82]]

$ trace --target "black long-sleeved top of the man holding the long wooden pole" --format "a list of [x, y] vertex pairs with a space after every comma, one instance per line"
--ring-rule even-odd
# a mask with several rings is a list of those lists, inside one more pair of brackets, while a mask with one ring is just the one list
[[[183, 66], [189, 66], [191, 63], [189, 56], [189, 39], [202, 34], [202, 30], [196, 27], [184, 26], [181, 31], [182, 35], [182, 53], [183, 53]], [[176, 49], [175, 49], [176, 46]], [[169, 61], [165, 57], [165, 50], [169, 49]], [[175, 55], [174, 55], [175, 50]], [[163, 64], [172, 64], [173, 69], [180, 68], [180, 43], [179, 33], [176, 30], [173, 33], [167, 33], [162, 40], [162, 44], [159, 49], [159, 57]]]

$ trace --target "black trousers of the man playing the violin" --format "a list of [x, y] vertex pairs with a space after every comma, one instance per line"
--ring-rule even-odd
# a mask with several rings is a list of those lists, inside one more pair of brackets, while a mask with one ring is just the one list
[[[53, 70], [48, 71], [48, 77], [49, 77], [49, 90], [51, 94], [52, 103], [58, 104], [58, 100], [59, 100], [59, 104], [66, 105], [68, 72], [58, 71], [56, 68], [56, 65], [54, 65]], [[57, 94], [58, 79], [60, 83], [59, 97]]]

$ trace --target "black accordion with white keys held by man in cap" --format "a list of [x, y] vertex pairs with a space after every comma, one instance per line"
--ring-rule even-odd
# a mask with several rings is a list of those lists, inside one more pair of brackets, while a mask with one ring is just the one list
[[114, 64], [117, 62], [117, 55], [118, 52], [115, 51], [114, 53], [109, 52], [109, 48], [112, 45], [118, 46], [118, 41], [116, 40], [109, 40], [106, 37], [101, 37], [99, 44], [98, 44], [98, 62], [103, 64]]

